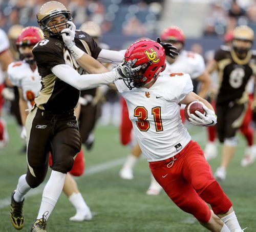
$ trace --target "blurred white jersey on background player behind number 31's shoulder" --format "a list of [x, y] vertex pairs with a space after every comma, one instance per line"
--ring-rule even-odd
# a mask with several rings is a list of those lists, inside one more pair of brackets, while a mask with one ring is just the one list
[[173, 64], [166, 61], [166, 68], [163, 73], [184, 72], [188, 73], [191, 79], [196, 79], [205, 69], [204, 59], [198, 53], [182, 50]]

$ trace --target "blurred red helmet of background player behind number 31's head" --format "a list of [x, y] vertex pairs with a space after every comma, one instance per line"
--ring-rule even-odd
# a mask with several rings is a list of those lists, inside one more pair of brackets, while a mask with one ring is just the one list
[[183, 31], [176, 27], [176, 26], [171, 26], [169, 28], [166, 28], [162, 34], [161, 34], [161, 40], [163, 41], [179, 41], [183, 45], [185, 43], [185, 36]]

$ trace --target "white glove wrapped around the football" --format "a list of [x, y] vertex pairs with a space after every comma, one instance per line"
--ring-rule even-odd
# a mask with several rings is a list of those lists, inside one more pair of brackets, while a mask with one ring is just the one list
[[203, 106], [206, 116], [203, 115], [201, 112], [196, 111], [195, 113], [199, 116], [197, 117], [196, 115], [191, 114], [189, 121], [193, 125], [198, 125], [198, 126], [212, 126], [217, 123], [217, 115], [215, 114], [214, 111], [208, 109], [206, 106]]

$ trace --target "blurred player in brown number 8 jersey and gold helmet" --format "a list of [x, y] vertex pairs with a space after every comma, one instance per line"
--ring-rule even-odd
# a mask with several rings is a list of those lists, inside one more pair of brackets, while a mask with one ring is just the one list
[[220, 181], [226, 179], [226, 169], [238, 144], [236, 132], [242, 125], [248, 104], [247, 85], [251, 75], [255, 75], [255, 53], [251, 50], [253, 41], [251, 28], [245, 25], [236, 27], [231, 48], [222, 46], [207, 64], [209, 73], [214, 70], [219, 73], [217, 133], [223, 148], [221, 165], [215, 176]]

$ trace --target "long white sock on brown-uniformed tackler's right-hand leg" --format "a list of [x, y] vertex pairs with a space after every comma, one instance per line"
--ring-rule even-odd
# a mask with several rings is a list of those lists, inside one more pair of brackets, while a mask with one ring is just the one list
[[42, 215], [44, 215], [46, 212], [48, 212], [46, 219], [49, 218], [62, 192], [65, 178], [65, 173], [52, 171], [49, 181], [45, 186], [44, 192], [42, 192], [42, 201], [37, 219], [42, 218]]

